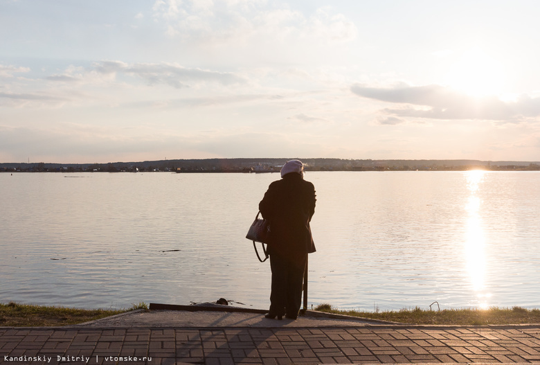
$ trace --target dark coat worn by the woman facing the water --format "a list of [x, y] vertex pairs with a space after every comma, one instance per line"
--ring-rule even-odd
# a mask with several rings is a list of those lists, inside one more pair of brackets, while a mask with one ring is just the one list
[[270, 184], [259, 210], [270, 222], [269, 253], [293, 261], [315, 252], [309, 222], [315, 213], [315, 188], [303, 176], [291, 172]]

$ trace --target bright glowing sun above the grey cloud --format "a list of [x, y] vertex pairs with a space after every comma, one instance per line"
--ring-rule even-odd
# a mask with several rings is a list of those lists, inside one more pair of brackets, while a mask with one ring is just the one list
[[472, 48], [458, 57], [447, 74], [446, 84], [469, 96], [498, 96], [505, 82], [501, 62], [480, 48]]

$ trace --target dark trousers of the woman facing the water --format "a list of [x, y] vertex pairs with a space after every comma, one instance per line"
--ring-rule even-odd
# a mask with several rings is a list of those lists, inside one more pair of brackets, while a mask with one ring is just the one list
[[270, 253], [272, 285], [270, 294], [270, 313], [285, 314], [289, 318], [298, 317], [302, 304], [302, 289], [307, 253], [304, 258], [291, 261]]

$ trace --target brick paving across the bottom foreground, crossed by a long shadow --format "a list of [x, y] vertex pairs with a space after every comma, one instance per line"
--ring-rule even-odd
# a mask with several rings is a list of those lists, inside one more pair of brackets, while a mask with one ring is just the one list
[[540, 326], [0, 328], [0, 364], [540, 362]]

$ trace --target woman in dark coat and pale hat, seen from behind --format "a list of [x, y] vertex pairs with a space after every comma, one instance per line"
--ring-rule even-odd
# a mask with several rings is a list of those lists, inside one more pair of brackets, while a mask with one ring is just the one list
[[302, 302], [307, 253], [315, 252], [309, 222], [315, 213], [315, 188], [304, 180], [299, 160], [287, 161], [282, 179], [273, 181], [259, 210], [270, 222], [268, 253], [272, 271], [269, 319], [296, 319]]

